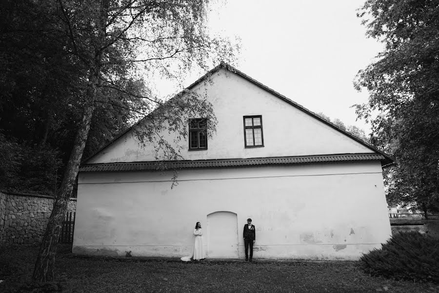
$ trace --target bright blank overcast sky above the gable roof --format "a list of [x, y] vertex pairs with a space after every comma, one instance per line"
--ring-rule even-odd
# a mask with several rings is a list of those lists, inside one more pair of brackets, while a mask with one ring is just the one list
[[[364, 0], [228, 0], [213, 5], [210, 26], [239, 36], [237, 69], [313, 112], [366, 131], [351, 105], [367, 101], [353, 80], [382, 50], [357, 18]], [[193, 75], [187, 85], [200, 76]]]

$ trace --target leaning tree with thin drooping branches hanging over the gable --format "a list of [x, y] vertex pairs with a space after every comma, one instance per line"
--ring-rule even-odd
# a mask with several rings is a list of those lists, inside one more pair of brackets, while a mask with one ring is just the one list
[[[214, 129], [212, 107], [191, 92], [164, 103], [145, 88], [140, 69], [179, 80], [181, 72], [194, 66], [207, 68], [210, 65], [207, 61], [232, 60], [236, 47], [226, 40], [209, 37], [208, 3], [204, 0], [34, 2], [44, 7], [48, 15], [55, 16], [52, 30], [46, 33], [60, 36], [63, 51], [85, 68], [77, 97], [83, 114], [33, 273], [38, 281], [50, 281], [54, 278], [60, 225], [78, 174], [95, 106], [124, 108], [137, 115], [149, 113], [137, 127], [141, 129], [137, 132], [139, 139], [158, 142], [158, 156], [178, 156], [178, 150], [160, 137], [160, 130], [179, 130], [183, 125], [181, 117], [198, 115], [210, 118], [210, 129]], [[127, 98], [124, 100], [127, 104], [120, 103], [120, 96]]]

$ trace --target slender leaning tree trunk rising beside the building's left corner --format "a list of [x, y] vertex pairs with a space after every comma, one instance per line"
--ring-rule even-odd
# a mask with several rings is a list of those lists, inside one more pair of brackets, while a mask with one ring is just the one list
[[75, 138], [75, 145], [70, 154], [69, 162], [61, 182], [60, 190], [53, 204], [52, 213], [50, 214], [47, 229], [44, 233], [40, 246], [37, 262], [35, 264], [32, 278], [40, 282], [53, 281], [55, 264], [55, 254], [57, 251], [58, 239], [60, 238], [61, 224], [67, 210], [67, 204], [78, 175], [82, 153], [87, 141], [88, 131], [93, 116], [93, 103], [96, 97], [98, 84], [98, 70], [93, 72], [89, 77], [89, 83], [86, 91], [86, 104], [84, 106], [84, 114], [78, 133]]

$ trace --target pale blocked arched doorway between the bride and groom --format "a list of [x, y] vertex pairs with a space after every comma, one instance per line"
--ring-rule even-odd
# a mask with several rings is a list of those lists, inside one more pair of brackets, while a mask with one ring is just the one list
[[207, 257], [239, 258], [236, 213], [216, 211], [207, 215]]

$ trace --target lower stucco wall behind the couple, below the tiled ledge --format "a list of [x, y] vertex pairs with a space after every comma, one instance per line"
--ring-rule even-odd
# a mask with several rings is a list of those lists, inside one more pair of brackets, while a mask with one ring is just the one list
[[358, 259], [391, 236], [378, 161], [180, 170], [172, 189], [171, 177], [80, 173], [73, 251], [183, 256], [216, 211], [237, 214], [240, 258], [248, 217], [255, 258]]

